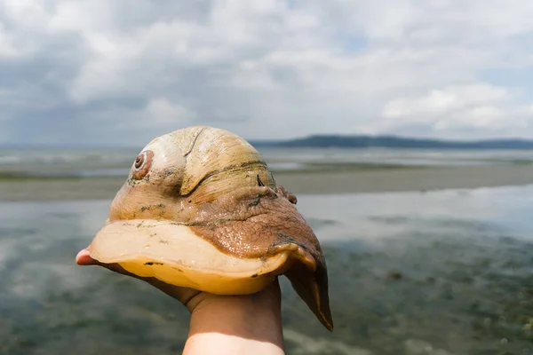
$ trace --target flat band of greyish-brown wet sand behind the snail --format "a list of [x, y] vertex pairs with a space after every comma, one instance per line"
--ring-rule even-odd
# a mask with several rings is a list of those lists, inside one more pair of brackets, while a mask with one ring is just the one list
[[[532, 165], [274, 172], [295, 194], [383, 193], [533, 184]], [[112, 199], [126, 177], [0, 180], [0, 201]]]

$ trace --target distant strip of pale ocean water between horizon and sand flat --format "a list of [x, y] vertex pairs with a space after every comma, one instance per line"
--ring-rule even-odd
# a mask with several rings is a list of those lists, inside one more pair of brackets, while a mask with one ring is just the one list
[[[260, 147], [271, 170], [532, 163], [529, 151]], [[138, 148], [2, 148], [0, 177], [125, 176]]]

